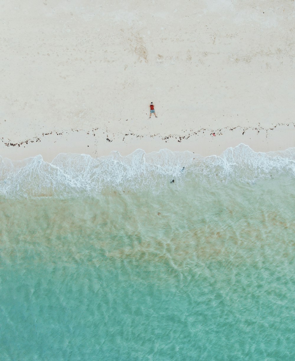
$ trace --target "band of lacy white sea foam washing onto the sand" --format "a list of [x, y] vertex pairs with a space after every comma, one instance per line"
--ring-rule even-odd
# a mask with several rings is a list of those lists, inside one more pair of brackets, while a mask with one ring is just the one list
[[103, 190], [179, 187], [185, 181], [255, 182], [281, 174], [295, 178], [295, 148], [254, 152], [245, 144], [228, 148], [221, 156], [201, 157], [191, 152], [145, 153], [137, 149], [128, 156], [111, 152], [92, 158], [61, 153], [51, 163], [42, 156], [11, 161], [0, 157], [0, 195], [4, 197], [97, 196]]

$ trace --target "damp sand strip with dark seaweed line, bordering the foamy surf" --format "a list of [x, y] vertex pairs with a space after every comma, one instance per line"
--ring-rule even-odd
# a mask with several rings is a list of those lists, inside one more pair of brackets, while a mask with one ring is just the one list
[[284, 151], [295, 147], [295, 123], [269, 128], [262, 127], [222, 127], [201, 128], [174, 134], [146, 134], [128, 131], [110, 132], [106, 129], [71, 129], [47, 131], [29, 139], [5, 139], [2, 137], [0, 156], [11, 160], [41, 155], [45, 161], [52, 161], [60, 153], [87, 154], [93, 158], [106, 156], [117, 151], [122, 156], [143, 149], [146, 153], [169, 149], [190, 151], [201, 156], [220, 155], [227, 148], [243, 143], [255, 152]]

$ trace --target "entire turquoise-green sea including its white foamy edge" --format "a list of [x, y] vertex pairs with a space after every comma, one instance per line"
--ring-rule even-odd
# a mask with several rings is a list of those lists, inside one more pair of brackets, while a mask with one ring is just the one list
[[295, 148], [0, 158], [0, 360], [295, 360]]

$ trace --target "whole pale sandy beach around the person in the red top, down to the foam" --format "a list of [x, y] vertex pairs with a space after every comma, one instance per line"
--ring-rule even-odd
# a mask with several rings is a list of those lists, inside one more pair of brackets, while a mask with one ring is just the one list
[[294, 24], [294, 1], [6, 1], [0, 155], [294, 147]]

